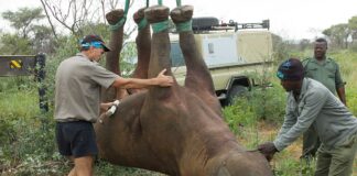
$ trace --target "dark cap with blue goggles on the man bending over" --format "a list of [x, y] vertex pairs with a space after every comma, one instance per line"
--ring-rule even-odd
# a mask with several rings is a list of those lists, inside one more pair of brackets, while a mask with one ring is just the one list
[[304, 78], [304, 67], [300, 59], [289, 58], [279, 66], [277, 76], [281, 80], [302, 80]]

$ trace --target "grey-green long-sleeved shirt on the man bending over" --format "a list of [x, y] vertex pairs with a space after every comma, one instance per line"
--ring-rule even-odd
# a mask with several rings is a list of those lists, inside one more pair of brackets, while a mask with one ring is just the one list
[[285, 148], [311, 125], [328, 148], [357, 133], [357, 119], [344, 103], [321, 82], [304, 78], [298, 101], [292, 91], [288, 95], [284, 122], [273, 142], [277, 150]]

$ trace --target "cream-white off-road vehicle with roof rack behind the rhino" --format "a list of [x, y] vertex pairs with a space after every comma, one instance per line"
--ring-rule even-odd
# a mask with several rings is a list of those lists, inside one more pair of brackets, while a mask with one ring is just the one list
[[[255, 85], [251, 75], [262, 73], [263, 67], [271, 63], [269, 21], [218, 24], [215, 18], [197, 18], [193, 19], [193, 30], [197, 48], [209, 68], [217, 97], [224, 106], [251, 90]], [[172, 34], [170, 40], [172, 72], [178, 84], [183, 85], [186, 67], [177, 34]]]

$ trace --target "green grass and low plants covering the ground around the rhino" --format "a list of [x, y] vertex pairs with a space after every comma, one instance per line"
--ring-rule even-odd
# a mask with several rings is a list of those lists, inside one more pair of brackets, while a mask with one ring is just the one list
[[[300, 54], [305, 55], [305, 54]], [[347, 103], [357, 114], [357, 53], [333, 53], [340, 65], [346, 85]], [[53, 65], [48, 79], [53, 79]], [[270, 73], [274, 75], [274, 73]], [[237, 135], [239, 143], [247, 148], [255, 148], [259, 143], [272, 141], [282, 123], [285, 106], [284, 91], [274, 76], [269, 89], [256, 89], [239, 99], [235, 106], [224, 110], [225, 119]], [[48, 80], [53, 99], [53, 81]], [[65, 175], [72, 168], [67, 160], [60, 156], [54, 140], [53, 107], [48, 113], [39, 109], [37, 89], [31, 78], [0, 77], [0, 175]], [[300, 161], [301, 139], [278, 153], [271, 162], [278, 176], [310, 176], [314, 163], [306, 165]], [[118, 176], [159, 176], [162, 174], [121, 166], [106, 162], [96, 163], [96, 175]], [[10, 172], [11, 170], [11, 172]], [[354, 165], [357, 176], [357, 158]]]

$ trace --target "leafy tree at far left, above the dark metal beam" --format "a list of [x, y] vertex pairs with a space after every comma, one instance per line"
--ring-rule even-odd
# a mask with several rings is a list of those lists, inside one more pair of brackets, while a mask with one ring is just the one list
[[53, 51], [55, 41], [51, 29], [39, 24], [45, 18], [41, 8], [7, 11], [2, 13], [2, 18], [14, 29], [14, 34], [6, 33], [1, 36], [2, 54], [37, 54]]

